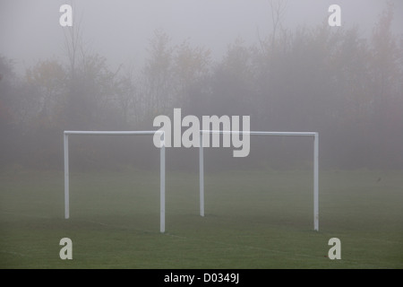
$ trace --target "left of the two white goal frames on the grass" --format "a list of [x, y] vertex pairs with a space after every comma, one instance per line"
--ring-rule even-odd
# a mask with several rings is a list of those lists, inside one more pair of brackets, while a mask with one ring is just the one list
[[70, 218], [69, 135], [155, 135], [160, 134], [159, 231], [165, 232], [165, 133], [163, 131], [64, 131], [64, 218]]

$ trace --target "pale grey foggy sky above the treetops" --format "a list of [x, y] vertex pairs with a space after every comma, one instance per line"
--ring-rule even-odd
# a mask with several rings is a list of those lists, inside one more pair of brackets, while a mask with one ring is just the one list
[[[393, 30], [403, 34], [403, 1], [394, 0]], [[17, 72], [40, 59], [63, 57], [61, 4], [73, 5], [85, 45], [109, 64], [142, 65], [153, 31], [162, 29], [173, 43], [188, 39], [219, 58], [237, 37], [247, 43], [271, 29], [269, 0], [0, 0], [0, 55], [12, 58]], [[342, 25], [358, 25], [363, 36], [385, 7], [382, 0], [288, 0], [284, 26], [327, 21], [330, 4], [339, 4]], [[337, 29], [337, 28], [335, 28]]]

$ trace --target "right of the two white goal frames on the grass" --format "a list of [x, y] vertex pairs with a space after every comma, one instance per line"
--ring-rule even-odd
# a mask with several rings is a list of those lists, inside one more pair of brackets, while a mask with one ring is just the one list
[[199, 191], [200, 215], [204, 216], [204, 155], [203, 135], [278, 135], [278, 136], [313, 136], [313, 230], [319, 231], [319, 134], [316, 132], [262, 132], [262, 131], [221, 131], [201, 130], [199, 144]]

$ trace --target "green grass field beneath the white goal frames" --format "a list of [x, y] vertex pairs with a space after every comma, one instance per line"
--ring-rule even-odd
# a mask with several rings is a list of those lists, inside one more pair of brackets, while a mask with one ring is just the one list
[[[159, 174], [71, 174], [71, 219], [56, 171], [0, 175], [1, 268], [402, 268], [401, 171], [320, 173], [313, 230], [311, 171], [167, 173], [167, 232], [159, 233]], [[73, 260], [59, 241], [73, 240]], [[327, 257], [341, 240], [341, 260]]]

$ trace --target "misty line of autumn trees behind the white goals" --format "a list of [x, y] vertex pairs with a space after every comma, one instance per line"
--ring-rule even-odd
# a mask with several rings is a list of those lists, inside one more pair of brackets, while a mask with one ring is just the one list
[[[64, 130], [155, 130], [154, 117], [181, 108], [183, 117], [250, 116], [252, 130], [317, 131], [322, 167], [403, 168], [403, 39], [391, 32], [392, 18], [386, 9], [367, 37], [327, 23], [279, 26], [252, 46], [235, 39], [219, 60], [157, 30], [144, 64], [116, 69], [85, 47], [80, 27], [66, 28], [64, 58], [39, 60], [19, 76], [0, 57], [0, 165], [62, 169]], [[312, 164], [310, 139], [251, 143], [247, 159], [216, 148], [209, 165]], [[71, 145], [82, 167], [159, 162], [151, 137], [82, 136]], [[167, 165], [187, 169], [181, 162], [190, 158], [197, 167], [197, 150], [174, 150]]]

